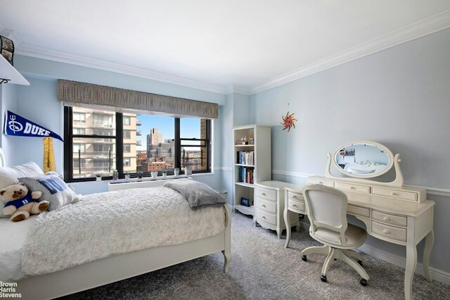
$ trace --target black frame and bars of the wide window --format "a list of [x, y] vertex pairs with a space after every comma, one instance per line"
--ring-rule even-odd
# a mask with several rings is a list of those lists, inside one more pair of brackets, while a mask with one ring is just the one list
[[[123, 123], [123, 113], [115, 113], [115, 136], [114, 135], [75, 135], [73, 133], [73, 123], [72, 118], [72, 106], [64, 106], [64, 180], [66, 182], [88, 182], [95, 181], [95, 177], [73, 177], [73, 139], [74, 137], [79, 138], [89, 138], [89, 139], [115, 139], [115, 169], [119, 173], [119, 178], [124, 178], [124, 144], [129, 144], [124, 142], [124, 125]], [[201, 118], [200, 118], [201, 119]], [[131, 135], [131, 132], [130, 132]], [[180, 118], [174, 117], [174, 144], [175, 144], [175, 156], [174, 156], [174, 168], [181, 169], [181, 146], [183, 140], [195, 140], [195, 141], [205, 141], [205, 147], [207, 151], [205, 170], [193, 170], [193, 174], [198, 173], [212, 173], [212, 120], [205, 119], [205, 139], [191, 139], [191, 138], [181, 138], [180, 137]], [[75, 143], [77, 144], [77, 143]], [[117, 163], [117, 162], [122, 163]], [[181, 171], [180, 174], [183, 174]], [[144, 172], [146, 177], [150, 176], [150, 172]], [[131, 173], [131, 177], [137, 177], [137, 173]], [[103, 176], [105, 180], [112, 180], [113, 176]]]

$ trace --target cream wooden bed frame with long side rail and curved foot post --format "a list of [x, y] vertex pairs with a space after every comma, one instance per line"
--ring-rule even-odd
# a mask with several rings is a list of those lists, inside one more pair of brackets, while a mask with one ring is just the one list
[[[6, 165], [1, 149], [0, 163], [1, 166]], [[224, 254], [224, 272], [228, 273], [231, 263], [231, 216], [226, 205], [224, 205], [224, 209], [226, 213], [225, 230], [218, 235], [185, 244], [121, 254], [55, 273], [27, 277], [17, 282], [15, 293], [20, 293], [23, 299], [53, 299], [166, 268], [218, 251]]]

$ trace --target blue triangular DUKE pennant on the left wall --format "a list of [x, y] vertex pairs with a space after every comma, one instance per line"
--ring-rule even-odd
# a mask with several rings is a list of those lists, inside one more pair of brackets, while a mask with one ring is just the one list
[[5, 135], [19, 135], [21, 137], [54, 137], [64, 142], [59, 135], [52, 132], [41, 125], [37, 125], [20, 115], [6, 111], [5, 113]]

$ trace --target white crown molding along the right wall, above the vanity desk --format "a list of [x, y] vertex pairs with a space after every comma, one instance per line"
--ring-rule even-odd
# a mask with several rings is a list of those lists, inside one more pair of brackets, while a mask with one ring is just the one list
[[289, 73], [285, 73], [284, 75], [275, 77], [262, 85], [252, 87], [250, 89], [250, 94], [257, 94], [267, 89], [284, 85], [288, 82], [318, 73], [322, 70], [333, 68], [336, 65], [353, 61], [356, 58], [361, 58], [392, 46], [397, 46], [413, 39], [430, 35], [448, 27], [450, 27], [450, 10], [438, 13], [430, 18], [426, 18], [418, 21], [417, 23], [402, 27], [399, 30], [394, 30], [387, 35], [371, 39], [368, 42], [364, 42], [357, 46], [353, 46], [352, 48], [341, 51], [338, 54], [333, 54], [332, 56], [323, 58], [315, 63], [304, 65], [302, 68], [298, 68]]

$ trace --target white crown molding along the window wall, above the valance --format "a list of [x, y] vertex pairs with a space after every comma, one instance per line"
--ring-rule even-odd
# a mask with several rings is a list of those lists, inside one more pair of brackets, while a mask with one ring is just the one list
[[181, 85], [193, 89], [202, 89], [208, 92], [226, 94], [226, 89], [221, 85], [214, 85], [200, 80], [192, 80], [186, 77], [125, 65], [123, 63], [115, 63], [101, 58], [79, 56], [64, 51], [54, 51], [34, 44], [22, 43], [15, 52], [23, 56], [57, 61], [59, 63], [70, 63], [72, 65], [80, 65], [87, 68], [96, 68], [99, 70], [166, 82], [172, 85]]

